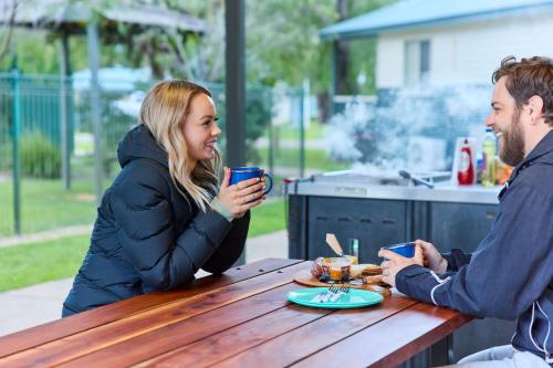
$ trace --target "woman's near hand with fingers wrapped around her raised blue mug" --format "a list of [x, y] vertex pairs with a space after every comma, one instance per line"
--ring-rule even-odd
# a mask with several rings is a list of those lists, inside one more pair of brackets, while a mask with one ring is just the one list
[[234, 219], [239, 219], [244, 213], [261, 204], [265, 200], [263, 190], [265, 189], [264, 179], [253, 178], [230, 185], [230, 169], [223, 169], [221, 188], [219, 189], [219, 201], [230, 211]]

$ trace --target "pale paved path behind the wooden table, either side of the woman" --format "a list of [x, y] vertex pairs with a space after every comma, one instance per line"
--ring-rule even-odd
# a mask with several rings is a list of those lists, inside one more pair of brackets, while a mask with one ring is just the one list
[[[288, 234], [283, 230], [251, 238], [246, 246], [248, 263], [265, 257], [286, 259]], [[200, 271], [196, 276], [207, 274]], [[0, 293], [0, 336], [60, 318], [72, 282], [72, 278], [65, 278]]]

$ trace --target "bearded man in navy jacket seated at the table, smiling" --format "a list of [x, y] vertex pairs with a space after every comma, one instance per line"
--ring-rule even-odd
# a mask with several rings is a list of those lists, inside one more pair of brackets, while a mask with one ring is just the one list
[[553, 60], [508, 57], [492, 80], [486, 125], [515, 168], [490, 233], [467, 255], [420, 240], [413, 259], [380, 250], [383, 280], [424, 302], [518, 320], [511, 345], [456, 367], [553, 367]]

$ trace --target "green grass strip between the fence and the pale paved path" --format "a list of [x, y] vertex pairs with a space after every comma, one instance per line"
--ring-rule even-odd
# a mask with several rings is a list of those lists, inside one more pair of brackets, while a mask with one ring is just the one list
[[[285, 229], [284, 200], [252, 210], [249, 236]], [[0, 248], [0, 292], [74, 276], [88, 249], [90, 235]]]

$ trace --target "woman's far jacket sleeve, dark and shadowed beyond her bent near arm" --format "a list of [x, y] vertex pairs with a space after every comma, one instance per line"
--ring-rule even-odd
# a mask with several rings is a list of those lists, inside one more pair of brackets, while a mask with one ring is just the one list
[[213, 252], [209, 260], [201, 266], [202, 270], [219, 274], [230, 269], [240, 257], [248, 236], [250, 227], [250, 211], [232, 221], [232, 228], [225, 236], [221, 245]]

